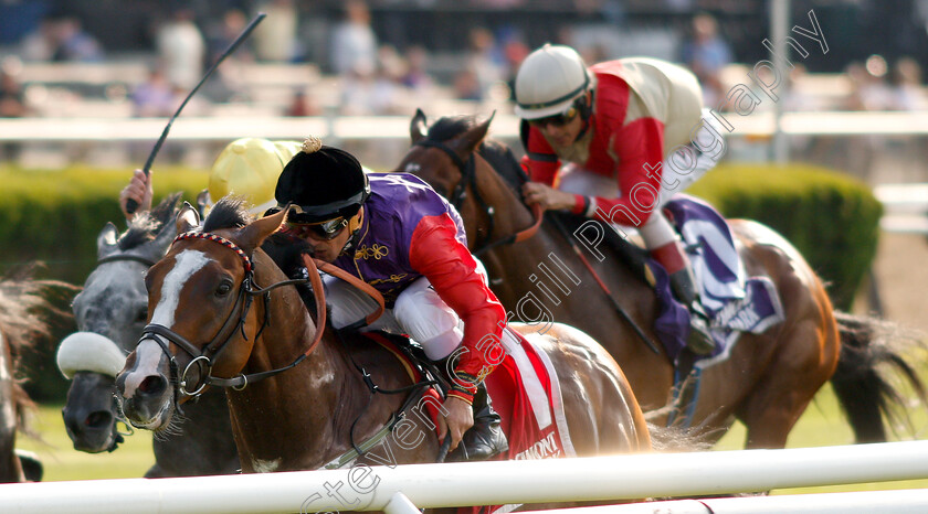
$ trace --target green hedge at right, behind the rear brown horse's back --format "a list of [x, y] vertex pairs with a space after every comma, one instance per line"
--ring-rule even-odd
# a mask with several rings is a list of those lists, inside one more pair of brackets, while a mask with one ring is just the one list
[[866, 184], [809, 164], [723, 164], [688, 192], [726, 217], [782, 234], [827, 283], [834, 304], [851, 308], [876, 255], [883, 215]]

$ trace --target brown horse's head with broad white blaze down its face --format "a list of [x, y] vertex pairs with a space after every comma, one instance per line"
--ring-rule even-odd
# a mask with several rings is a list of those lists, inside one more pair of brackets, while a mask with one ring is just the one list
[[179, 400], [198, 395], [210, 377], [242, 372], [264, 321], [250, 309], [255, 249], [285, 215], [249, 224], [242, 201], [226, 197], [196, 232], [197, 212], [181, 210], [177, 239], [145, 278], [148, 325], [116, 378], [133, 425], [166, 429]]

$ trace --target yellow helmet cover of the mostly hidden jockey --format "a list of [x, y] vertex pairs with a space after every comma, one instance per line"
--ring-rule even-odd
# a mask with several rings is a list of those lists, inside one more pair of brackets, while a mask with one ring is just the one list
[[298, 141], [243, 138], [226, 146], [210, 170], [208, 206], [226, 194], [245, 196], [252, 214], [277, 205], [274, 189], [284, 165], [300, 148]]

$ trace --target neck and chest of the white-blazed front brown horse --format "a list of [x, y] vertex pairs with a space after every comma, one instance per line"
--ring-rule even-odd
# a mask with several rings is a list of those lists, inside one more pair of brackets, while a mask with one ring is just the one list
[[[315, 322], [294, 288], [275, 290], [267, 308], [273, 311], [245, 374], [289, 365], [315, 335]], [[256, 315], [263, 317], [263, 309], [262, 302]], [[369, 395], [331, 331], [299, 365], [228, 393], [246, 471], [316, 469], [328, 463], [350, 448], [346, 436]], [[361, 425], [359, 438], [369, 428]]]

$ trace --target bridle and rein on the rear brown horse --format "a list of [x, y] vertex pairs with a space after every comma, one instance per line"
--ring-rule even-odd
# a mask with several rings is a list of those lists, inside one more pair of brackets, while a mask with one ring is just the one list
[[[474, 159], [474, 153], [472, 152], [467, 157], [467, 160], [464, 161], [457, 153], [455, 153], [455, 151], [451, 147], [449, 147], [442, 141], [432, 141], [429, 139], [423, 139], [414, 142], [413, 146], [437, 148], [439, 150], [443, 151], [452, 160], [452, 162], [454, 162], [454, 164], [461, 171], [461, 181], [457, 182], [457, 185], [454, 186], [454, 189], [451, 192], [451, 196], [447, 200], [451, 203], [451, 205], [454, 206], [454, 208], [461, 211], [461, 205], [464, 203], [464, 199], [467, 195], [467, 188], [470, 188], [471, 191], [473, 191], [474, 193], [474, 197], [476, 199], [477, 204], [486, 214], [487, 219], [489, 219], [489, 227], [487, 229], [486, 235], [486, 238], [489, 238], [493, 235], [495, 222], [494, 216], [496, 215], [496, 210], [493, 207], [493, 205], [486, 203], [486, 201], [481, 195], [479, 188], [477, 188], [477, 167], [476, 160]], [[541, 225], [541, 219], [544, 218], [541, 206], [538, 204], [532, 205], [531, 214], [532, 216], [535, 216], [535, 223], [531, 226], [529, 226], [525, 231], [519, 231], [506, 237], [502, 237], [499, 239], [485, 243], [483, 245], [477, 245], [477, 249], [474, 250], [473, 254], [475, 256], [479, 256], [493, 248], [496, 248], [497, 246], [520, 243], [534, 236], [538, 232], [538, 227]]]

